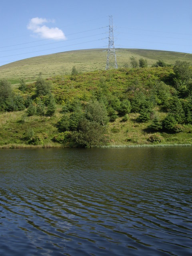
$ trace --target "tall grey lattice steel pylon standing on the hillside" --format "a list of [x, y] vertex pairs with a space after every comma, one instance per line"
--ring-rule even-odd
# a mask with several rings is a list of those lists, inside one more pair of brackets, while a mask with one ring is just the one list
[[110, 68], [118, 68], [116, 54], [115, 54], [115, 46], [114, 46], [112, 16], [109, 16], [109, 45], [108, 45], [107, 62], [106, 62], [105, 70], [108, 70]]

